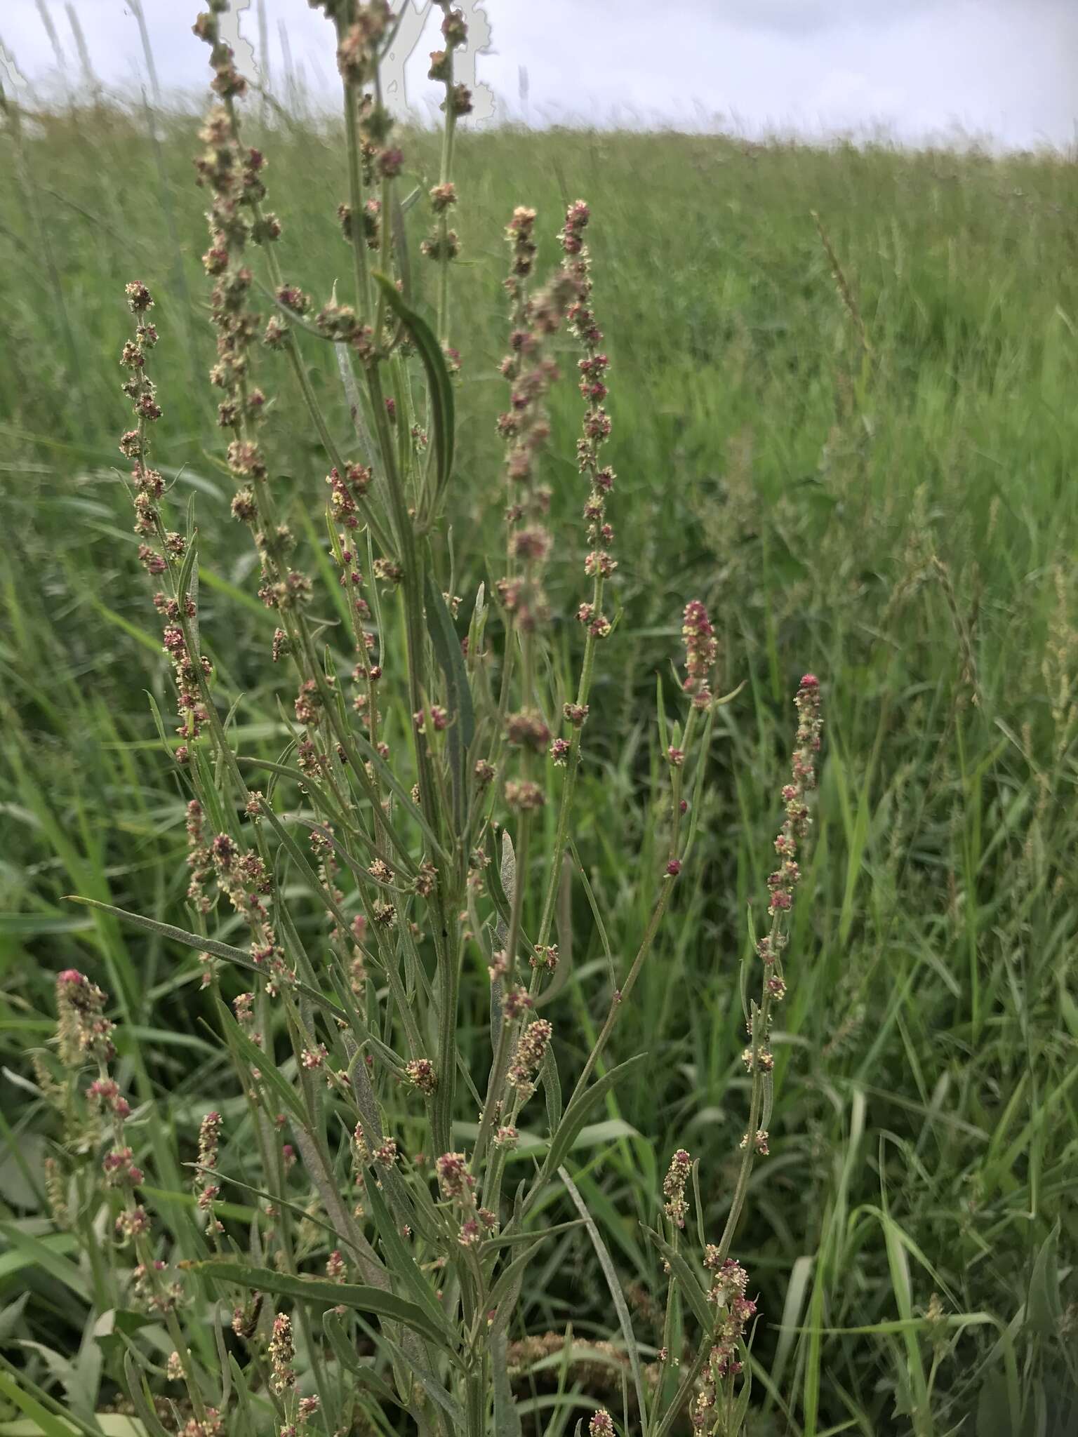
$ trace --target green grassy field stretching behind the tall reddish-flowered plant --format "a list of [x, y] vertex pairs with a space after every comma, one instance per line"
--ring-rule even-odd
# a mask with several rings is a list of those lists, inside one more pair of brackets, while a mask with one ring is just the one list
[[[168, 670], [115, 470], [134, 276], [170, 336], [157, 456], [195, 504], [218, 684], [252, 752], [273, 756], [283, 731], [260, 661], [272, 619], [210, 457], [194, 131], [183, 114], [98, 106], [9, 116], [0, 137], [0, 1043], [6, 1131], [24, 1160], [9, 1151], [0, 1168], [7, 1217], [36, 1210], [26, 1050], [52, 1030], [56, 970], [116, 992], [183, 1141], [221, 1081], [191, 956], [62, 901], [184, 923], [184, 795], [147, 701], [167, 710]], [[326, 296], [349, 263], [339, 137], [273, 116], [260, 142], [286, 276]], [[405, 149], [428, 180], [433, 138]], [[499, 131], [463, 137], [457, 178], [463, 595], [497, 575], [503, 543], [500, 228], [533, 204], [553, 260], [565, 200], [592, 207], [621, 616], [576, 842], [614, 954], [642, 918], [627, 864], [658, 862], [647, 716], [686, 599], [717, 618], [724, 688], [745, 681], [720, 711], [694, 871], [617, 1035], [614, 1056], [650, 1059], [609, 1098], [607, 1141], [576, 1154], [592, 1210], [622, 1214], [612, 1249], [641, 1341], [657, 1341], [657, 1269], [637, 1217], [674, 1147], [701, 1158], [709, 1221], [729, 1204], [746, 905], [765, 902], [789, 698], [812, 670], [821, 798], [776, 1033], [772, 1157], [739, 1239], [763, 1312], [750, 1430], [1074, 1431], [1078, 174], [1058, 158]], [[309, 364], [336, 394], [323, 354]], [[282, 502], [321, 552], [325, 458], [283, 368], [273, 388]], [[578, 401], [563, 388], [553, 504], [556, 532], [578, 539], [552, 566], [556, 615], [578, 602], [585, 547]], [[555, 632], [558, 658], [575, 625]], [[573, 923], [559, 999], [569, 1069], [609, 992], [582, 892]], [[484, 986], [476, 973], [464, 999], [476, 1053]], [[63, 1371], [17, 1344], [70, 1355], [85, 1306], [20, 1253], [0, 1255], [0, 1341], [60, 1392]], [[568, 1318], [607, 1336], [608, 1305], [586, 1239], [565, 1234], [529, 1279], [515, 1336]], [[542, 1378], [523, 1391], [540, 1397]]]

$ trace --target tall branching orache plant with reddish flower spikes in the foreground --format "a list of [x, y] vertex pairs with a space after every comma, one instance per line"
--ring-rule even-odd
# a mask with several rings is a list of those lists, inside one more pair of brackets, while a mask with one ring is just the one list
[[[665, 1272], [665, 1290], [654, 1295], [664, 1305], [663, 1346], [644, 1349], [599, 1221], [566, 1163], [630, 1068], [608, 1068], [604, 1055], [691, 862], [713, 716], [726, 700], [711, 691], [711, 622], [691, 601], [684, 711], [670, 721], [658, 714], [664, 858], [658, 871], [635, 875], [650, 915], [635, 953], [611, 957], [608, 1015], [565, 1094], [553, 1046], [566, 961], [561, 914], [572, 885], [586, 885], [572, 842], [573, 798], [598, 717], [595, 665], [617, 614], [615, 476], [602, 458], [608, 359], [592, 308], [588, 205], [568, 205], [562, 259], [546, 276], [536, 274], [535, 211], [520, 207], [507, 224], [507, 399], [497, 418], [506, 553], [493, 585], [479, 585], [464, 605], [441, 522], [450, 486], [466, 481], [454, 468], [454, 375], [466, 333], [451, 309], [460, 241], [450, 227], [454, 129], [470, 108], [453, 69], [467, 40], [463, 17], [441, 6], [444, 49], [430, 72], [444, 86], [441, 167], [421, 195], [404, 193], [405, 158], [381, 92], [390, 7], [322, 6], [344, 82], [348, 198], [339, 218], [351, 274], [319, 308], [286, 282], [277, 259], [282, 223], [267, 208], [264, 158], [243, 142], [246, 83], [220, 39], [223, 9], [218, 0], [195, 24], [214, 76], [197, 161], [217, 332], [210, 379], [221, 391], [233, 514], [250, 530], [272, 624], [267, 681], [290, 706], [282, 711], [292, 737], [276, 762], [253, 759], [214, 698], [200, 644], [197, 532], [190, 514], [185, 525], [170, 520], [168, 487], [151, 467], [162, 412], [154, 346], [168, 335], [157, 332], [149, 290], [134, 282], [122, 365], [135, 418], [121, 451], [132, 466], [139, 558], [158, 586], [154, 605], [174, 667], [178, 743], [165, 743], [188, 793], [191, 927], [121, 917], [200, 953], [234, 1076], [223, 1079], [220, 1109], [201, 1119], [190, 1191], [172, 1188], [151, 1167], [161, 1135], [151, 1157], [141, 1152], [154, 1125], [152, 1091], [141, 1083], [128, 1096], [114, 1076], [105, 993], [63, 971], [57, 1043], [37, 1075], [56, 1108], [53, 1219], [82, 1244], [95, 1306], [119, 1335], [109, 1349], [114, 1375], [154, 1437], [388, 1431], [407, 1430], [408, 1420], [446, 1437], [520, 1431], [507, 1375], [516, 1302], [543, 1239], [572, 1224], [586, 1229], [611, 1288], [611, 1336], [627, 1375], [619, 1421], [650, 1437], [687, 1421], [703, 1433], [737, 1431], [756, 1306], [732, 1247], [753, 1164], [768, 1154], [769, 1029], [785, 996], [819, 684], [805, 675], [796, 696], [769, 927], [756, 941], [759, 996], [746, 1000], [750, 1096], [729, 1216], [709, 1243], [697, 1210], [699, 1242], [690, 1242], [696, 1168], [688, 1152], [674, 1152], [647, 1229]], [[405, 218], [424, 207], [430, 319], [418, 308]], [[543, 401], [559, 379], [566, 331], [584, 401], [576, 467], [588, 536], [571, 683], [552, 661], [543, 583], [558, 559]], [[348, 438], [333, 433], [310, 382], [309, 345], [332, 346], [354, 424]], [[272, 398], [262, 385], [282, 369], [280, 381], [303, 395], [329, 468], [328, 546], [315, 555], [322, 578], [336, 581], [329, 589], [298, 566], [275, 481]], [[160, 714], [158, 723], [164, 739]], [[241, 938], [211, 935], [226, 924]], [[489, 1012], [484, 1073], [459, 1045], [461, 1013], [477, 1006]], [[170, 1163], [181, 1170], [178, 1152]], [[569, 1407], [568, 1398], [555, 1404], [558, 1423]], [[612, 1430], [609, 1414], [596, 1411], [592, 1437]]]

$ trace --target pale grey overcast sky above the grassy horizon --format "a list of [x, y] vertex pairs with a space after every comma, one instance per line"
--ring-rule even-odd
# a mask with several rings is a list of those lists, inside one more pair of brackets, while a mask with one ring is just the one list
[[[400, 3], [400, 0], [398, 0]], [[293, 70], [315, 93], [336, 85], [331, 29], [306, 0], [262, 0], [269, 76], [285, 93], [282, 29]], [[414, 11], [428, 0], [407, 0]], [[204, 85], [206, 50], [185, 0], [142, 0], [160, 82]], [[466, 13], [476, 0], [463, 0]], [[138, 24], [125, 0], [3, 0], [0, 76], [34, 89], [56, 79], [42, 10], [70, 73], [78, 14], [96, 75], [145, 83]], [[482, 0], [473, 36], [480, 98], [535, 124], [676, 124], [864, 135], [903, 141], [959, 134], [1005, 147], [1065, 147], [1078, 138], [1078, 0]], [[427, 52], [418, 13], [410, 102], [423, 106]], [[240, 39], [259, 46], [259, 0]], [[3, 73], [3, 72], [7, 73]], [[526, 78], [525, 78], [526, 76]], [[483, 89], [486, 88], [486, 91]]]

